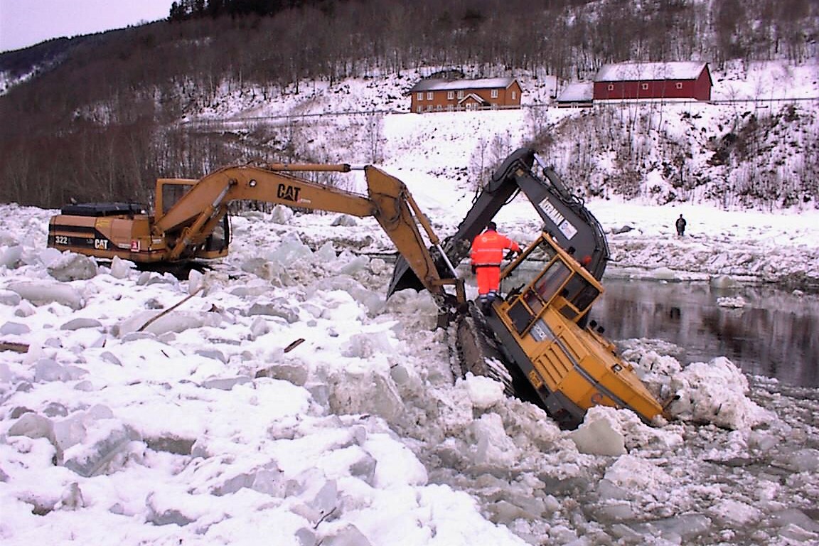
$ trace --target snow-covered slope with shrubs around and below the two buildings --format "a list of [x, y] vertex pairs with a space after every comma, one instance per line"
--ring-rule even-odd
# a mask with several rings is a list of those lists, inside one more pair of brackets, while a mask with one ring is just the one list
[[727, 65], [713, 73], [708, 104], [559, 109], [550, 97], [564, 83], [523, 74], [519, 111], [410, 114], [405, 93], [423, 75], [302, 83], [269, 100], [261, 91], [223, 93], [184, 121], [318, 161], [401, 169], [423, 160], [430, 174], [473, 185], [510, 149], [534, 142], [588, 196], [729, 209], [817, 205], [815, 63]]

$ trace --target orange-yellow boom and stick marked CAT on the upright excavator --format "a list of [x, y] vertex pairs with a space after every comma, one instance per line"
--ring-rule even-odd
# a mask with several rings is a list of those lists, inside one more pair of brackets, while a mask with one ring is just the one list
[[[347, 173], [350, 165], [268, 165], [233, 166], [206, 175], [190, 191], [153, 223], [155, 237], [169, 242], [170, 261], [183, 259], [186, 252], [205, 241], [219, 224], [232, 201], [262, 201], [298, 209], [324, 210], [372, 216], [390, 237], [414, 278], [432, 293], [439, 307], [447, 308], [464, 301], [463, 285], [450, 264], [446, 276], [438, 272], [437, 261], [446, 264], [446, 255], [432, 227], [404, 183], [382, 170], [363, 168], [368, 195], [325, 186], [296, 172], [334, 171]], [[433, 250], [419, 230], [432, 242]], [[432, 252], [436, 254], [433, 257]], [[441, 258], [443, 256], [443, 258]], [[446, 286], [455, 287], [455, 295]]]

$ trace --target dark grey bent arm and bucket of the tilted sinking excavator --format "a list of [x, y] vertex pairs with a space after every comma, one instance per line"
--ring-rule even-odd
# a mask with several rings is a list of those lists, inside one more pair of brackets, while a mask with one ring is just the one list
[[[543, 176], [535, 173], [535, 163]], [[447, 238], [444, 249], [452, 264], [459, 264], [469, 254], [474, 237], [486, 228], [486, 223], [509, 203], [518, 193], [523, 192], [543, 220], [543, 231], [550, 233], [554, 240], [574, 256], [598, 280], [603, 278], [609, 246], [600, 223], [586, 209], [580, 197], [573, 195], [554, 172], [545, 166], [532, 148], [519, 148], [495, 170], [490, 183], [483, 188], [473, 202], [458, 231]], [[438, 264], [439, 271], [446, 275], [446, 269]], [[393, 272], [389, 293], [414, 288], [422, 290], [423, 283], [414, 278], [409, 264], [398, 261]]]

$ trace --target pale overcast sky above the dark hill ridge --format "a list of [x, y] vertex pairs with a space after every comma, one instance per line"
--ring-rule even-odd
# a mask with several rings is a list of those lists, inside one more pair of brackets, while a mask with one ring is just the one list
[[173, 0], [0, 0], [0, 52], [165, 19]]

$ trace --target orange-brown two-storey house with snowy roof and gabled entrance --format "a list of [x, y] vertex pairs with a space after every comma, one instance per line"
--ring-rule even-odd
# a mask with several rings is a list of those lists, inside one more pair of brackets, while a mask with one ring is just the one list
[[422, 79], [409, 90], [410, 111], [422, 114], [520, 108], [522, 93], [514, 78]]

